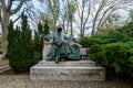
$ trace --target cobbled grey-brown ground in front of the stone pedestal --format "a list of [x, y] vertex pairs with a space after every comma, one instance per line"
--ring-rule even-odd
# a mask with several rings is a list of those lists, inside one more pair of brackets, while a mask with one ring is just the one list
[[33, 81], [30, 76], [0, 75], [0, 88], [131, 88], [120, 79], [108, 81]]

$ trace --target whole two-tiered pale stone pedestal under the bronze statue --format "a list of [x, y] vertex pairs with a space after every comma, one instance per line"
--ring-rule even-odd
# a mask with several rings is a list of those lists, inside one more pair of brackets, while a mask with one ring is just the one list
[[30, 69], [31, 80], [105, 80], [105, 69], [92, 61], [68, 61], [55, 64], [42, 61]]

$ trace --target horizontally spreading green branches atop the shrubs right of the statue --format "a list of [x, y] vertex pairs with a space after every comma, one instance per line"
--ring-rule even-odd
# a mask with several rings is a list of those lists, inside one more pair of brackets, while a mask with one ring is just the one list
[[120, 31], [111, 31], [106, 35], [95, 35], [92, 37], [81, 37], [79, 43], [84, 47], [90, 47], [94, 44], [109, 44], [115, 42], [126, 42], [130, 41], [127, 35], [121, 33]]

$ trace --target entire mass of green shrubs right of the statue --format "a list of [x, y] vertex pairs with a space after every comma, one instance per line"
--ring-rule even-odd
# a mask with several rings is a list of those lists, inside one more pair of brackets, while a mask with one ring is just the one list
[[90, 57], [102, 65], [110, 65], [116, 73], [133, 76], [133, 23], [105, 35], [82, 37], [79, 43], [90, 48]]

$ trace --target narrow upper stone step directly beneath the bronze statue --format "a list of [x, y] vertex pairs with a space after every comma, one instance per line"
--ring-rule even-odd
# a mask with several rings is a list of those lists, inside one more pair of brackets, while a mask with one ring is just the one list
[[55, 64], [55, 62], [45, 62], [45, 61], [41, 61], [38, 66], [68, 66], [68, 67], [94, 67], [95, 66], [95, 62], [93, 61], [66, 61], [66, 62], [60, 62], [59, 64]]

